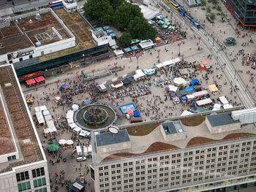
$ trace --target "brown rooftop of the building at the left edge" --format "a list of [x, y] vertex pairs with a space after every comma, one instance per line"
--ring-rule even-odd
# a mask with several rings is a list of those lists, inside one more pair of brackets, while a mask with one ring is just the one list
[[[15, 70], [10, 65], [0, 66], [0, 90], [3, 105], [7, 111], [7, 117], [10, 120], [10, 129], [8, 126], [2, 126], [1, 131], [5, 131], [4, 139], [10, 139], [10, 130], [15, 137], [15, 142], [7, 142], [6, 145], [0, 145], [0, 151], [9, 148], [12, 151], [12, 143], [17, 144], [19, 158], [13, 161], [7, 161], [0, 164], [0, 173], [7, 172], [14, 166], [29, 164], [35, 161], [44, 160], [42, 147], [38, 142], [37, 132], [31, 120], [29, 109], [26, 106], [26, 101], [23, 97], [18, 79], [15, 76]], [[1, 105], [1, 109], [4, 109]], [[1, 115], [1, 121], [4, 121]], [[7, 123], [4, 121], [3, 123]], [[1, 139], [1, 143], [4, 139]], [[0, 155], [1, 158], [1, 155]]]

